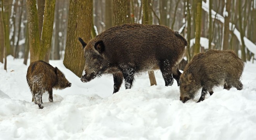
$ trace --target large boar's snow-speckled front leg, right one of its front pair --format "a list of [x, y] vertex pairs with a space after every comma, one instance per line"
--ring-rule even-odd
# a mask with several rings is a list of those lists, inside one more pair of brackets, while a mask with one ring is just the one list
[[134, 79], [134, 68], [127, 66], [125, 69], [122, 69], [123, 77], [125, 79], [125, 89], [130, 89], [133, 84]]

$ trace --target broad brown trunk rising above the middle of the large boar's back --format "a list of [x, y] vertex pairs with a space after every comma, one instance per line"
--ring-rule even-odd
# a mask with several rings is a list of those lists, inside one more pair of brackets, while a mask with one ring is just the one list
[[126, 0], [113, 0], [113, 26], [126, 23]]

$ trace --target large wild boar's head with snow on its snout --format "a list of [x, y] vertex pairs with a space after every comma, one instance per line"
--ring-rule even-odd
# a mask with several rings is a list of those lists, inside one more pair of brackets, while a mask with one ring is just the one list
[[85, 67], [81, 76], [81, 81], [86, 83], [96, 76], [100, 76], [106, 68], [106, 61], [104, 61], [102, 55], [105, 51], [105, 46], [102, 40], [88, 44], [86, 44], [80, 37], [78, 40], [83, 46], [85, 56]]

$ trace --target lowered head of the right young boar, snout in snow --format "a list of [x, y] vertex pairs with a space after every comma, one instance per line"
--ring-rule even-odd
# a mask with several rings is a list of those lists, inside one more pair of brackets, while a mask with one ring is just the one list
[[192, 74], [182, 74], [180, 76], [180, 100], [185, 103], [193, 99], [197, 91], [197, 86]]

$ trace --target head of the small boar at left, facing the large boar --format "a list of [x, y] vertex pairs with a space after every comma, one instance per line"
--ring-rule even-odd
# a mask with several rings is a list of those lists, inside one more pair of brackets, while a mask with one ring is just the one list
[[67, 81], [64, 74], [57, 67], [55, 67], [55, 74], [57, 77], [57, 83], [54, 86], [55, 89], [64, 89], [67, 87], [71, 87], [71, 83]]

